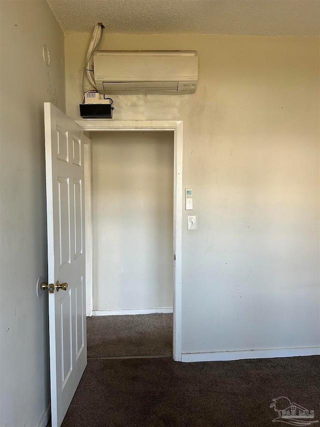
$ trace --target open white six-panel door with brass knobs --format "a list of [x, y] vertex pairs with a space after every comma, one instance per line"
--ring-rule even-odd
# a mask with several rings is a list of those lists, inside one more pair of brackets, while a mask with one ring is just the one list
[[59, 427], [86, 365], [83, 130], [50, 103], [44, 122], [51, 422]]

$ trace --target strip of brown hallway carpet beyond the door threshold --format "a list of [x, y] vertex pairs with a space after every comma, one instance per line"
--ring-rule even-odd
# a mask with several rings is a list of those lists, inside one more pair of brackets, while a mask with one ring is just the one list
[[172, 313], [86, 318], [87, 356], [172, 355]]

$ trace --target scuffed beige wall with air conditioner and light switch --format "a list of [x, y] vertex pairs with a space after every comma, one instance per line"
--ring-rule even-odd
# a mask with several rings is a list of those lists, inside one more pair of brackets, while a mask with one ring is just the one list
[[[65, 36], [79, 119], [89, 34]], [[194, 95], [114, 96], [114, 119], [183, 120], [182, 350], [319, 345], [319, 39], [105, 34], [105, 50], [197, 50]]]

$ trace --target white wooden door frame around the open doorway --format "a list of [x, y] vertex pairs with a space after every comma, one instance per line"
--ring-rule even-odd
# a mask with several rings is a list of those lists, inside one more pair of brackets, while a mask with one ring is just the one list
[[[183, 122], [181, 120], [75, 120], [84, 132], [105, 131], [173, 131], [174, 138], [174, 195], [173, 195], [173, 360], [181, 361], [181, 287], [182, 287], [182, 148]], [[84, 177], [91, 177], [90, 141], [84, 138]], [[91, 180], [86, 179], [85, 235], [86, 235], [86, 308], [92, 315], [92, 217]]]

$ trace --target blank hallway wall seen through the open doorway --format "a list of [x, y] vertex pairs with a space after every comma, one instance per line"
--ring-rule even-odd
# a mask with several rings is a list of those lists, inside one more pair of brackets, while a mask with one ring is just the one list
[[172, 308], [173, 133], [90, 138], [93, 310]]

